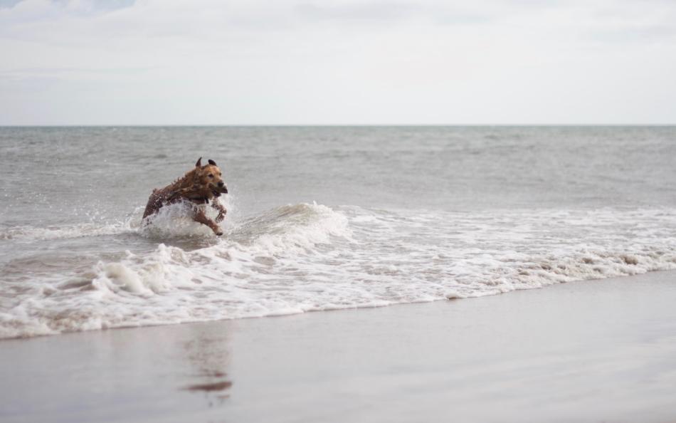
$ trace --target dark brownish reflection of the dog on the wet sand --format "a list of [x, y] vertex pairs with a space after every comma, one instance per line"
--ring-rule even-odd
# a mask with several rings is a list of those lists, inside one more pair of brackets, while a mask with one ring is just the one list
[[230, 351], [228, 351], [228, 339], [221, 335], [213, 337], [208, 333], [197, 333], [193, 340], [184, 343], [188, 362], [196, 373], [196, 383], [181, 387], [181, 390], [191, 392], [204, 392], [211, 402], [211, 395], [215, 395], [221, 403], [230, 395], [226, 393], [233, 385], [228, 380], [226, 369], [230, 361]]

